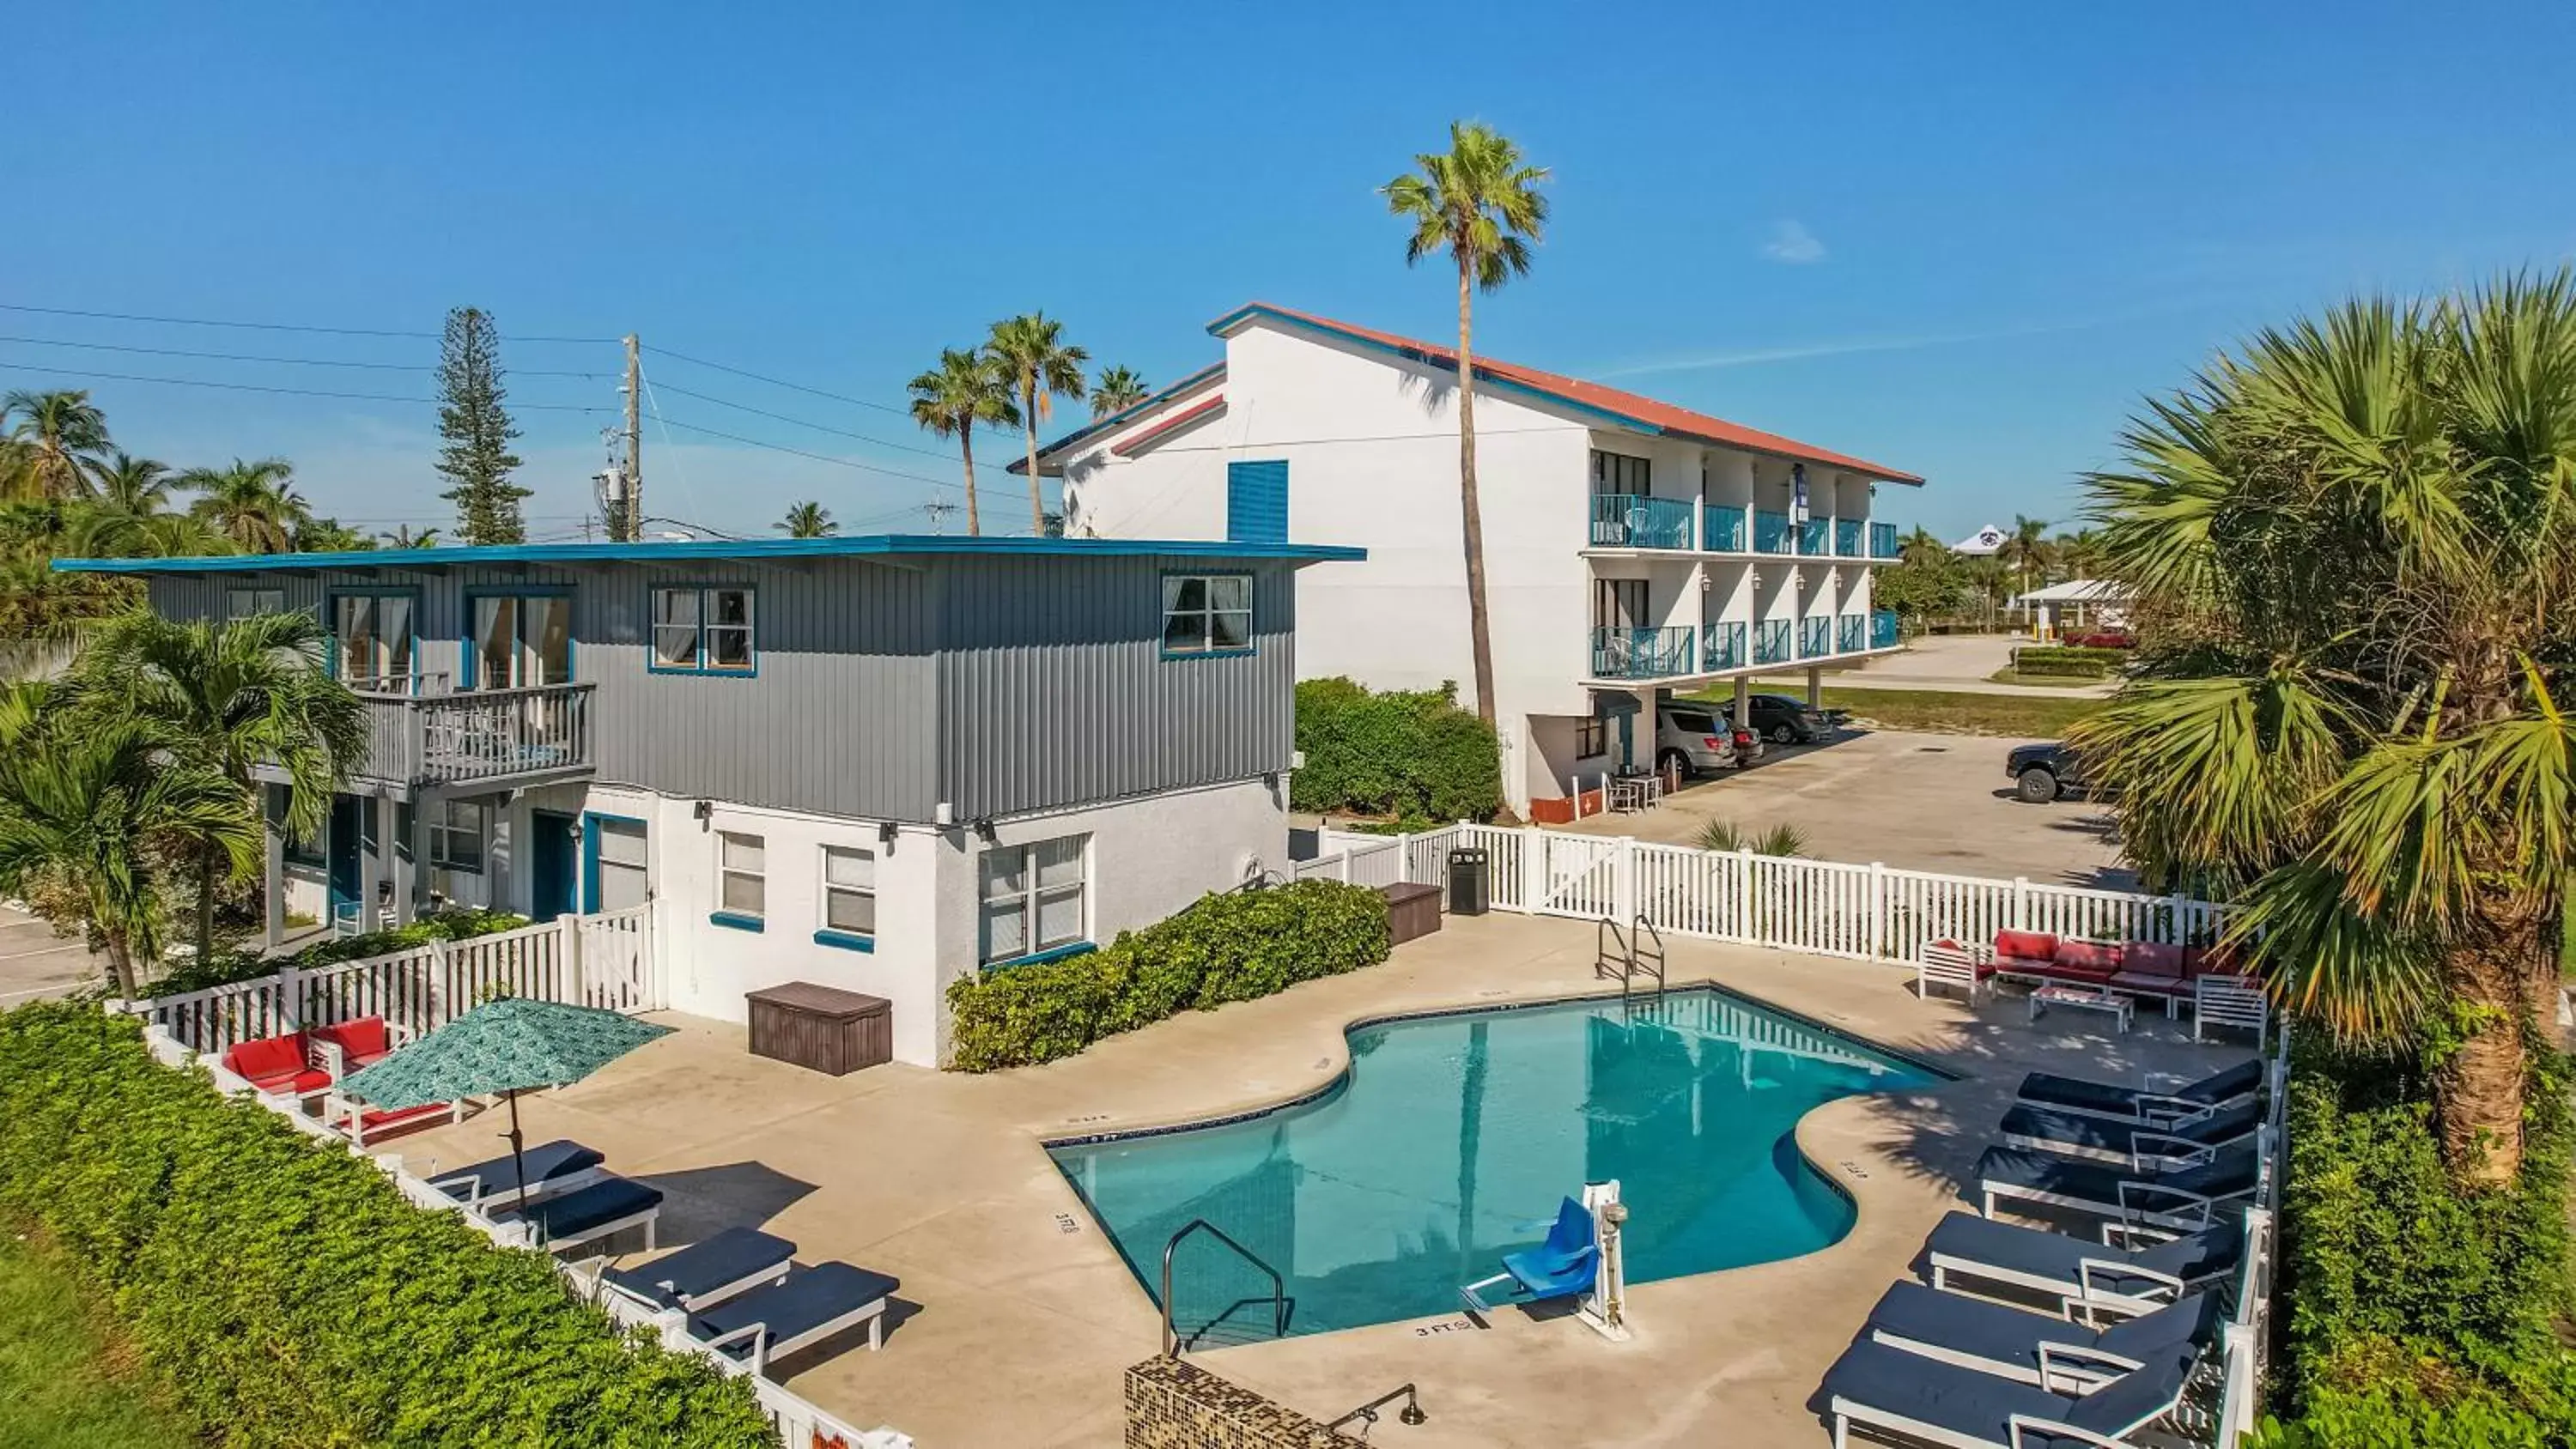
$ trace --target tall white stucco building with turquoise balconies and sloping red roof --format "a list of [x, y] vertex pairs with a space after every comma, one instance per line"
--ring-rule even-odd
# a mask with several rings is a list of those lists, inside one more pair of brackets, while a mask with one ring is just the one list
[[[1473, 690], [1453, 347], [1283, 306], [1208, 324], [1224, 360], [1038, 456], [1066, 530], [1314, 538], [1363, 564], [1298, 577], [1298, 674]], [[1896, 558], [1862, 458], [1628, 391], [1476, 358], [1494, 718], [1517, 811], [1654, 762], [1664, 690], [1896, 646], [1870, 571]]]

